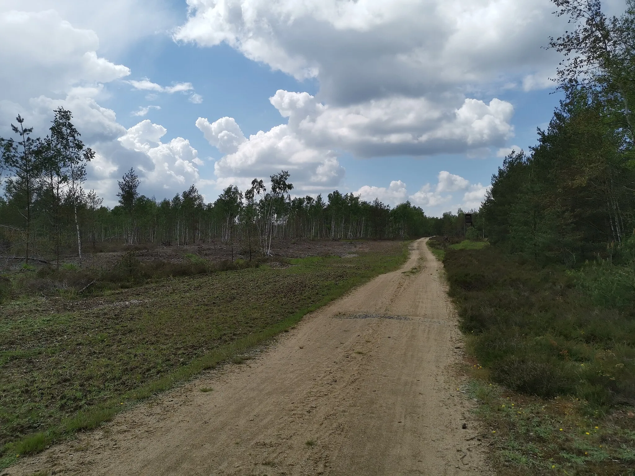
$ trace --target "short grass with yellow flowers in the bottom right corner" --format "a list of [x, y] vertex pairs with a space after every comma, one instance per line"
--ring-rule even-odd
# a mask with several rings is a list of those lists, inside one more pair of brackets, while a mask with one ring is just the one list
[[464, 388], [480, 403], [475, 411], [486, 432], [478, 439], [493, 449], [498, 474], [632, 474], [635, 422], [623, 412], [588, 414], [576, 399], [545, 401], [478, 379]]

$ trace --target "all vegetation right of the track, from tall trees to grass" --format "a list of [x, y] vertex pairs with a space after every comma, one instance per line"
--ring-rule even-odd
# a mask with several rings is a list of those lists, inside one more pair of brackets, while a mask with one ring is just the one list
[[570, 20], [550, 41], [565, 98], [492, 177], [479, 215], [494, 246], [429, 246], [445, 252], [472, 371], [514, 391], [477, 381], [471, 395], [500, 472], [632, 475], [635, 3], [613, 18], [599, 0], [554, 4]]

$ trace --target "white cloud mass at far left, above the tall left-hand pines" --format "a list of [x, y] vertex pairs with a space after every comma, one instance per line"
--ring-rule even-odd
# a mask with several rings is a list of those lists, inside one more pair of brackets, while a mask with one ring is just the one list
[[[37, 2], [25, 6], [36, 8]], [[115, 1], [112, 8], [126, 6]], [[72, 111], [84, 143], [96, 152], [86, 187], [95, 188], [110, 206], [116, 203], [117, 178], [131, 166], [142, 177], [142, 192], [159, 198], [200, 182], [198, 168], [204, 162], [189, 141], [178, 137], [162, 143], [166, 130], [147, 120], [126, 129], [114, 110], [99, 104], [110, 95], [109, 84], [130, 76], [128, 67], [100, 56], [99, 49], [95, 31], [72, 25], [56, 10], [0, 10], [0, 91], [9, 92], [0, 96], [0, 136], [11, 136], [10, 124], [18, 114], [36, 135], [46, 135], [54, 109]], [[192, 102], [202, 102], [190, 83], [129, 83], [155, 93], [187, 93]], [[150, 109], [160, 108], [139, 107], [131, 114], [142, 117]]]

